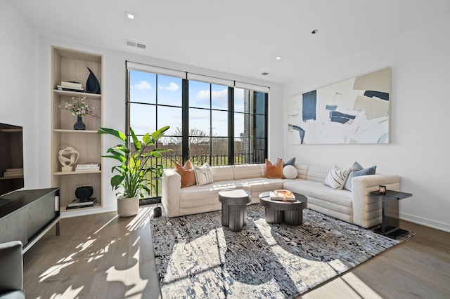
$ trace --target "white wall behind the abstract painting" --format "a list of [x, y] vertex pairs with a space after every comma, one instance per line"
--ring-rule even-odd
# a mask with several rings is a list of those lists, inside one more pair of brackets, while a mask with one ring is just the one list
[[[450, 15], [333, 65], [285, 84], [285, 101], [293, 95], [392, 67], [390, 145], [288, 145], [284, 157], [297, 163], [364, 167], [401, 175], [400, 217], [450, 231]], [[285, 112], [286, 113], [286, 112]], [[285, 140], [288, 124], [285, 122]], [[285, 141], [286, 142], [286, 141]]]

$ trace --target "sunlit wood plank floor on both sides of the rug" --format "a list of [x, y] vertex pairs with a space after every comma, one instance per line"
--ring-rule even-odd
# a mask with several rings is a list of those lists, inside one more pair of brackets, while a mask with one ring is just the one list
[[[24, 255], [27, 298], [160, 298], [150, 215], [61, 220]], [[401, 221], [416, 237], [299, 298], [450, 298], [450, 233]]]

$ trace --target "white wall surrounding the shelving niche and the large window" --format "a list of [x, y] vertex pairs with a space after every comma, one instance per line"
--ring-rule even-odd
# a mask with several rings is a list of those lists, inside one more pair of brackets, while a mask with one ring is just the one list
[[[281, 84], [271, 84], [266, 81], [249, 79], [233, 74], [225, 74], [210, 69], [201, 69], [190, 65], [181, 65], [175, 62], [148, 58], [142, 55], [133, 55], [120, 51], [112, 51], [105, 48], [96, 48], [84, 44], [77, 44], [70, 41], [63, 41], [60, 39], [41, 36], [39, 39], [39, 101], [44, 103], [44, 105], [39, 115], [39, 127], [42, 128], [40, 132], [42, 142], [39, 144], [39, 149], [41, 150], [41, 152], [48, 153], [41, 157], [39, 161], [39, 177], [43, 178], [41, 182], [42, 186], [49, 185], [51, 181], [51, 173], [49, 167], [51, 163], [51, 46], [72, 48], [79, 51], [99, 53], [103, 55], [103, 86], [101, 86], [103, 95], [102, 126], [108, 128], [116, 128], [120, 131], [125, 130], [126, 60], [145, 63], [148, 65], [155, 65], [158, 67], [179, 69], [181, 71], [194, 72], [196, 74], [205, 74], [212, 77], [233, 79], [250, 84], [269, 86], [271, 88], [269, 99], [269, 114], [283, 114], [283, 105], [280, 105], [280, 103], [283, 102], [283, 86], [281, 86]], [[136, 50], [136, 53], [139, 53], [139, 49]], [[276, 146], [282, 144], [283, 142], [283, 135], [280, 134], [282, 130], [282, 122], [271, 121], [271, 128], [269, 129], [269, 157], [271, 157], [271, 159], [276, 159], [276, 157], [283, 154], [283, 148]], [[103, 148], [108, 148], [115, 145], [115, 140], [113, 140], [112, 138], [108, 138], [108, 136], [103, 136], [103, 138]], [[72, 215], [91, 212], [95, 213], [98, 211], [115, 211], [115, 192], [113, 192], [110, 187], [111, 173], [109, 171], [111, 169], [111, 166], [113, 166], [114, 161], [110, 159], [103, 159], [102, 163], [102, 168], [103, 170], [105, 170], [103, 173], [103, 208], [101, 210], [90, 209], [89, 211], [75, 211], [73, 213], [71, 212]]]

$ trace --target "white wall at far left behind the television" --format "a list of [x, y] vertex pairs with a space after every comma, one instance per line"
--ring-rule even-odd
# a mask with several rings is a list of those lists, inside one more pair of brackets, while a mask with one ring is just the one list
[[37, 173], [41, 154], [38, 38], [10, 1], [0, 0], [0, 7], [0, 122], [23, 126], [25, 189], [34, 189], [39, 187]]

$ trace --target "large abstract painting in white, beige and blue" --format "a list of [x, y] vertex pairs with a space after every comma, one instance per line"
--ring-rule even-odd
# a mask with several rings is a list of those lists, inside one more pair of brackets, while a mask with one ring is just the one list
[[390, 100], [390, 67], [295, 95], [286, 109], [288, 143], [389, 143]]

